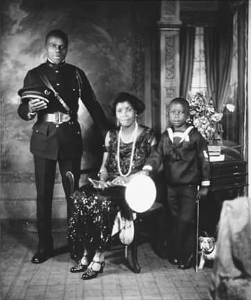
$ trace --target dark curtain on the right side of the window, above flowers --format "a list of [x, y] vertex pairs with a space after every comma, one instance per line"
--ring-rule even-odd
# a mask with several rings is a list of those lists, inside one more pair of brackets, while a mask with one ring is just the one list
[[232, 17], [224, 17], [216, 27], [205, 27], [204, 37], [207, 88], [217, 110], [222, 111], [231, 75]]

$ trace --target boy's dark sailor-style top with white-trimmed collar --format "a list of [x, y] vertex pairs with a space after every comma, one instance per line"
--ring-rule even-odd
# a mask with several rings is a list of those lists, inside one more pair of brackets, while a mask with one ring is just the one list
[[205, 185], [210, 183], [210, 165], [207, 141], [196, 128], [179, 143], [173, 142], [172, 128], [162, 133], [157, 151], [150, 154], [146, 165], [153, 167], [156, 172], [161, 163], [168, 185]]

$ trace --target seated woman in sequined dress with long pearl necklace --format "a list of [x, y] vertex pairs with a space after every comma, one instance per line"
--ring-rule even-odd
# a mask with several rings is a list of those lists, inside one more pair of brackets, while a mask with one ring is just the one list
[[[84, 185], [71, 196], [76, 211], [69, 220], [68, 238], [75, 244], [85, 244], [83, 258], [71, 268], [71, 272], [83, 272], [84, 280], [103, 272], [104, 253], [118, 211], [121, 210], [124, 217], [132, 218], [122, 185], [141, 171], [156, 144], [153, 130], [137, 124], [137, 115], [145, 109], [142, 101], [128, 92], [121, 92], [111, 108], [119, 130], [108, 131], [105, 137], [107, 151], [99, 172], [100, 181], [97, 185]], [[107, 182], [118, 186], [107, 188]], [[89, 263], [91, 251], [94, 256]]]

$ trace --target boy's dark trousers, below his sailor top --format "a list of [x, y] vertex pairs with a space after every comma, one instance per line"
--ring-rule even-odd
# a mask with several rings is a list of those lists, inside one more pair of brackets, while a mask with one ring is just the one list
[[171, 214], [171, 253], [187, 259], [195, 246], [195, 208], [197, 185], [168, 186], [167, 199]]

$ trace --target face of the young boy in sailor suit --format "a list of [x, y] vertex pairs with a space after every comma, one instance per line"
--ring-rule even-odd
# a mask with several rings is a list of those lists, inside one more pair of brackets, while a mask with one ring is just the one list
[[172, 126], [181, 127], [187, 122], [188, 110], [180, 103], [172, 103], [169, 107], [168, 117]]

